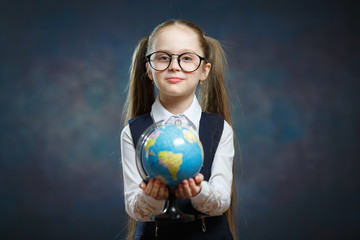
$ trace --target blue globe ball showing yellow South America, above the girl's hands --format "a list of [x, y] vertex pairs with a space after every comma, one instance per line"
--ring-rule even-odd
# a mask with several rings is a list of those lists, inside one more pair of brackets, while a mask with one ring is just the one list
[[177, 125], [151, 125], [137, 144], [137, 167], [145, 181], [159, 179], [175, 187], [201, 169], [204, 151], [199, 138]]

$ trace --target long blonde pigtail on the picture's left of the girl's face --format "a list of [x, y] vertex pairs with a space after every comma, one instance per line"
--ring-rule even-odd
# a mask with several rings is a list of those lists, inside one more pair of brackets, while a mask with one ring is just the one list
[[131, 118], [151, 111], [155, 101], [155, 89], [146, 71], [146, 51], [149, 37], [143, 38], [136, 47], [130, 67], [129, 93], [125, 106], [125, 125]]

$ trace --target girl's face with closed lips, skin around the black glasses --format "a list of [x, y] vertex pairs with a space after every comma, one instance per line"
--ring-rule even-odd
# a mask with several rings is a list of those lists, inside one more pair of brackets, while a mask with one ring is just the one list
[[[154, 38], [152, 52], [164, 51], [169, 54], [196, 53], [204, 57], [197, 34], [187, 27], [173, 26], [160, 31]], [[168, 97], [193, 97], [200, 81], [206, 79], [211, 64], [201, 62], [194, 72], [184, 72], [173, 56], [170, 66], [163, 71], [156, 71], [146, 64], [149, 78], [159, 89], [160, 99]]]

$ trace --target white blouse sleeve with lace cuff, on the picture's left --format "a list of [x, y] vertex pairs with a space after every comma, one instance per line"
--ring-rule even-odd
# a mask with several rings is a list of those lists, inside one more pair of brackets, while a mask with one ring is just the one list
[[121, 133], [121, 160], [126, 212], [137, 221], [149, 221], [150, 216], [163, 211], [165, 201], [147, 196], [139, 187], [142, 179], [136, 168], [135, 147], [129, 126], [126, 126]]

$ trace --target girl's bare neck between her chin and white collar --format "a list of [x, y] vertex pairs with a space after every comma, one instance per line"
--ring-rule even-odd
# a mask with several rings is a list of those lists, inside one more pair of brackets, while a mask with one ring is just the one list
[[185, 110], [190, 107], [190, 105], [194, 100], [194, 95], [192, 97], [186, 97], [186, 98], [166, 97], [159, 95], [159, 100], [166, 110], [176, 115], [185, 112]]

